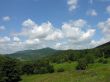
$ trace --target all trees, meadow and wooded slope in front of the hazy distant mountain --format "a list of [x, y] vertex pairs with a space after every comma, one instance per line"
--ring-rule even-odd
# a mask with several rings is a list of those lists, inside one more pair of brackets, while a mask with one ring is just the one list
[[0, 82], [109, 82], [110, 48], [58, 51], [39, 60], [0, 56]]

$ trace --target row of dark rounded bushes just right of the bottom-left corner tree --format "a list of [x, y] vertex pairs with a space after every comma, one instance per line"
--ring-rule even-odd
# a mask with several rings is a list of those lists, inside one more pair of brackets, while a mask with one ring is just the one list
[[48, 61], [37, 61], [33, 63], [25, 64], [22, 67], [22, 71], [24, 74], [45, 74], [45, 73], [53, 73], [54, 67], [50, 65]]

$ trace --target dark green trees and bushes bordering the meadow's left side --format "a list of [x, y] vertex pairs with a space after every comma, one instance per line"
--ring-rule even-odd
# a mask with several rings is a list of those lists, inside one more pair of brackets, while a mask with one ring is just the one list
[[48, 61], [20, 61], [0, 56], [0, 82], [19, 82], [24, 74], [53, 73], [54, 68]]

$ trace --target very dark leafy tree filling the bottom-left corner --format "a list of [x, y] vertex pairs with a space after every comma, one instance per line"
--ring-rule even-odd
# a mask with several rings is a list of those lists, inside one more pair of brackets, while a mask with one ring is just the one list
[[17, 61], [6, 59], [0, 63], [0, 82], [19, 82], [21, 80]]

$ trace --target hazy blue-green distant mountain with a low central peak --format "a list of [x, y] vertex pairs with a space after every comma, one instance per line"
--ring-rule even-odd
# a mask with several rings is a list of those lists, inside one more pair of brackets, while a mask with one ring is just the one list
[[17, 58], [20, 60], [36, 60], [42, 57], [50, 56], [58, 52], [59, 50], [54, 50], [51, 48], [43, 48], [38, 50], [24, 50], [13, 54], [8, 54], [9, 57]]

